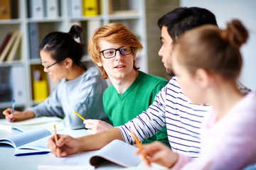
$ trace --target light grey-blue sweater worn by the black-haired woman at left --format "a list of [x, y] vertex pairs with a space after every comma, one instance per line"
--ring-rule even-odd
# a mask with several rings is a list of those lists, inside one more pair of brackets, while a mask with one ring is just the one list
[[101, 79], [100, 71], [91, 67], [77, 79], [60, 81], [45, 102], [27, 110], [33, 111], [36, 116], [59, 116], [70, 129], [85, 128], [82, 119], [74, 111], [85, 119], [109, 123], [102, 104], [102, 94], [106, 88], [107, 82]]

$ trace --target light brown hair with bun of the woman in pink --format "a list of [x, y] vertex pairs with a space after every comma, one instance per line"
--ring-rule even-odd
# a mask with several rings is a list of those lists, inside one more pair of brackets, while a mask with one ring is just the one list
[[202, 68], [235, 80], [240, 75], [242, 56], [240, 47], [246, 42], [248, 32], [242, 23], [234, 20], [225, 30], [207, 25], [184, 33], [174, 45], [178, 62], [194, 74]]

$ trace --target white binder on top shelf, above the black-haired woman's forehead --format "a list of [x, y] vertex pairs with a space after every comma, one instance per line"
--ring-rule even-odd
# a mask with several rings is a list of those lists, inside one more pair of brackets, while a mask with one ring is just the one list
[[58, 18], [58, 0], [46, 0], [46, 17]]

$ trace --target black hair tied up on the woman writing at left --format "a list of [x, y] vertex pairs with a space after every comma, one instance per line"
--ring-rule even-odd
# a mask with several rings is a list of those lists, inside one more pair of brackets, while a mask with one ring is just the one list
[[80, 42], [82, 42], [82, 28], [80, 26], [73, 25], [68, 33], [58, 31], [49, 33], [43, 38], [39, 45], [39, 50], [50, 52], [51, 57], [57, 62], [61, 62], [69, 57], [79, 67], [86, 69], [81, 62], [85, 45], [76, 42], [74, 38], [80, 38]]

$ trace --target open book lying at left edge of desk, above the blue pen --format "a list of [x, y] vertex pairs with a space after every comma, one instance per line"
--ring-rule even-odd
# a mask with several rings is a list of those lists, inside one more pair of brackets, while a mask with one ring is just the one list
[[11, 135], [0, 139], [0, 145], [11, 145], [16, 150], [15, 156], [25, 156], [31, 154], [47, 154], [48, 139], [51, 133], [46, 129], [29, 130], [16, 135]]

